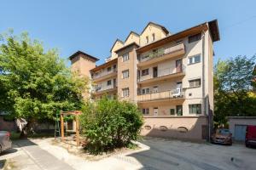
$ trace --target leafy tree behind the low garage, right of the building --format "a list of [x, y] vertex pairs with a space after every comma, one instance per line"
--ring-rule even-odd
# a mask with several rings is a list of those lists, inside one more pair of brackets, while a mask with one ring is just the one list
[[251, 94], [255, 59], [237, 56], [215, 65], [215, 122], [226, 122], [226, 116], [256, 116], [256, 98]]

